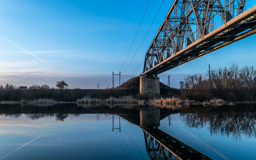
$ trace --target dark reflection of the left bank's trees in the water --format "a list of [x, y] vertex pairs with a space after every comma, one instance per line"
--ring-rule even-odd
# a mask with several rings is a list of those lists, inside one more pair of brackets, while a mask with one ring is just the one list
[[56, 121], [64, 121], [66, 118], [78, 117], [81, 114], [97, 114], [97, 121], [100, 120], [100, 115], [123, 113], [133, 113], [134, 105], [86, 105], [78, 107], [76, 104], [61, 104], [53, 107], [37, 107], [37, 106], [23, 106], [20, 105], [2, 105], [0, 107], [0, 116], [10, 118], [20, 118], [25, 115], [26, 118], [37, 120], [39, 118], [53, 118]]

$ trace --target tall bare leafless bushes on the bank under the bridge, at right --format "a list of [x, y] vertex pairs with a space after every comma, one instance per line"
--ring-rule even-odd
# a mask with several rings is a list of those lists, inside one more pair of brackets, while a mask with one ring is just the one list
[[219, 98], [246, 101], [256, 98], [256, 69], [253, 66], [213, 69], [209, 75], [188, 75], [180, 81], [181, 97], [204, 101]]

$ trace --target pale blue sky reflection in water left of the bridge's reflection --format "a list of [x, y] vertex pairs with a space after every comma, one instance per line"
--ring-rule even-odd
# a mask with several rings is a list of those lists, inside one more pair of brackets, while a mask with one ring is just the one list
[[[0, 157], [43, 134], [4, 159], [124, 159], [124, 156], [130, 159], [129, 153], [132, 159], [143, 159], [142, 156], [148, 159], [141, 129], [121, 118], [124, 128], [121, 132], [112, 132], [112, 115], [100, 115], [98, 120], [97, 115], [80, 115], [65, 121], [56, 121], [56, 118], [31, 121], [25, 115], [1, 116], [0, 123]], [[114, 127], [118, 127], [117, 117]]]

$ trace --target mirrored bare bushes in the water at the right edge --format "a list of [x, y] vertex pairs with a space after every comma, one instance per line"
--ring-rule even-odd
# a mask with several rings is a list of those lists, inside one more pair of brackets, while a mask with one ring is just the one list
[[191, 107], [181, 111], [185, 126], [206, 127], [211, 134], [232, 136], [236, 140], [256, 137], [256, 110], [252, 106]]

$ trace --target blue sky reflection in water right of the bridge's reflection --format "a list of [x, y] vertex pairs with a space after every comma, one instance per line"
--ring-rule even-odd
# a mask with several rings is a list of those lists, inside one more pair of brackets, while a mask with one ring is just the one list
[[181, 121], [179, 113], [170, 115], [170, 120], [169, 125], [168, 118], [163, 119], [159, 129], [211, 159], [255, 159], [255, 137], [249, 138], [241, 134], [241, 139], [236, 140], [231, 135], [211, 135], [207, 127], [187, 127]]

